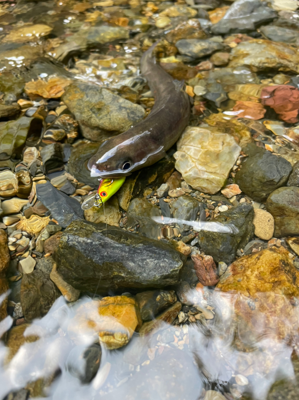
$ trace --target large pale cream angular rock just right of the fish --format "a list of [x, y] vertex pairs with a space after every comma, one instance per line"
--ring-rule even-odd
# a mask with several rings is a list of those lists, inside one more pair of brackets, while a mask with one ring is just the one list
[[225, 184], [241, 148], [226, 133], [188, 126], [177, 142], [175, 168], [185, 182], [204, 193], [215, 194]]

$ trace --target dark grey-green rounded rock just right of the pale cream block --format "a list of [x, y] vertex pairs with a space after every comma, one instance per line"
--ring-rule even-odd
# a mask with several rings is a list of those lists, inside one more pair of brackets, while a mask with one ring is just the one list
[[[248, 154], [247, 148], [245, 152]], [[287, 183], [291, 172], [291, 163], [285, 158], [275, 156], [255, 146], [255, 154], [251, 152], [242, 162], [235, 181], [239, 188], [253, 200], [264, 201], [273, 190]]]

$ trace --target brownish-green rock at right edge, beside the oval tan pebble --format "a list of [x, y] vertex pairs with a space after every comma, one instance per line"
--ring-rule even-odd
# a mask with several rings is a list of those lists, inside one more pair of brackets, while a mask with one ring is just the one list
[[299, 188], [289, 186], [274, 190], [267, 198], [267, 211], [274, 218], [274, 236], [299, 234]]

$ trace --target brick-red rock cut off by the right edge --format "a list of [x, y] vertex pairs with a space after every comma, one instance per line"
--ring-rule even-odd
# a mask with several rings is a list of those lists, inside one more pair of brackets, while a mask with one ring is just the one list
[[267, 86], [261, 91], [261, 104], [269, 106], [279, 119], [293, 124], [298, 122], [299, 90], [289, 85]]

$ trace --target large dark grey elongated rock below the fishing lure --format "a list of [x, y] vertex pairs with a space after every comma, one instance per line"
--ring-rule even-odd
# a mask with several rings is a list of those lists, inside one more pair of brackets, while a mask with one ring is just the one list
[[85, 220], [65, 229], [53, 258], [67, 283], [99, 294], [175, 284], [184, 261], [164, 242]]

